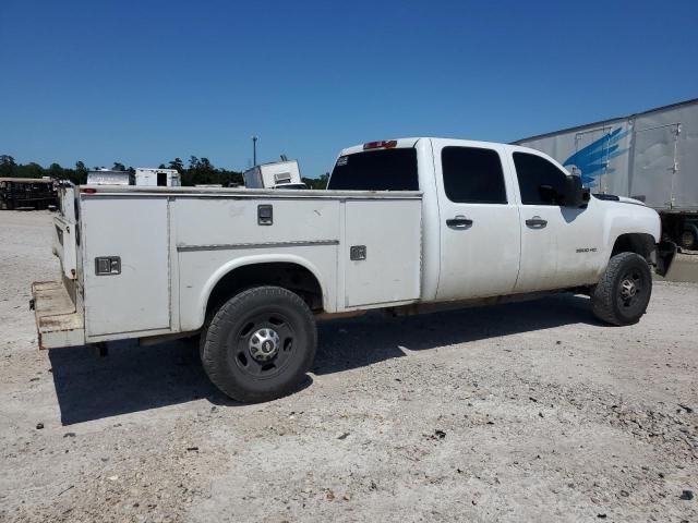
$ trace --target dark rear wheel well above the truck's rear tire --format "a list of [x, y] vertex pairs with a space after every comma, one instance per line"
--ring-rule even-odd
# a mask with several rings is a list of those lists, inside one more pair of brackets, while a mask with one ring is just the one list
[[266, 263], [238, 267], [224, 276], [210, 291], [206, 316], [234, 294], [258, 285], [276, 285], [298, 294], [311, 311], [322, 311], [323, 291], [317, 278], [292, 263]]

